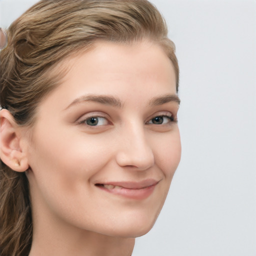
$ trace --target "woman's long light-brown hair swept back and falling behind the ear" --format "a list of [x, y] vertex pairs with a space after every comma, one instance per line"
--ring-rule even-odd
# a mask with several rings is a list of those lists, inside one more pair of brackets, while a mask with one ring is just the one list
[[[59, 84], [52, 67], [97, 40], [158, 43], [174, 66], [178, 89], [174, 44], [161, 14], [147, 0], [41, 0], [9, 26], [7, 36], [0, 52], [0, 103], [18, 125], [32, 125], [38, 103]], [[27, 255], [31, 239], [28, 180], [1, 161], [0, 255]]]

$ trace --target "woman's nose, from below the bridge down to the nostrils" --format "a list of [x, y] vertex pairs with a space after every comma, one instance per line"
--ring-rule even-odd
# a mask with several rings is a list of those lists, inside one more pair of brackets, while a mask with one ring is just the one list
[[143, 127], [129, 126], [119, 137], [116, 162], [119, 166], [146, 170], [154, 164], [154, 154]]

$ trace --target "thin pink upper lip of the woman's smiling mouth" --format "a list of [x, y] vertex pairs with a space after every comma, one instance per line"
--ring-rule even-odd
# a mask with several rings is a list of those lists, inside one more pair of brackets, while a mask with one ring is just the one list
[[144, 179], [141, 181], [106, 181], [106, 182], [97, 182], [95, 185], [113, 185], [121, 186], [128, 189], [141, 189], [148, 186], [156, 185], [160, 180], [155, 179]]

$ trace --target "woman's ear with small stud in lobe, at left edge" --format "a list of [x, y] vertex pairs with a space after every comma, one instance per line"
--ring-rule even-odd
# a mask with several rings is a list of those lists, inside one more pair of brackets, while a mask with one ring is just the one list
[[27, 155], [22, 148], [21, 128], [7, 109], [0, 111], [0, 158], [15, 171], [28, 169]]

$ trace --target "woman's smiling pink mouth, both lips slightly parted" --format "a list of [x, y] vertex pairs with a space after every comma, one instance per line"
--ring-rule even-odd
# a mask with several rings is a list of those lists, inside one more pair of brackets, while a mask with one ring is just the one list
[[130, 199], [142, 200], [152, 194], [155, 186], [159, 181], [145, 181], [141, 183], [135, 182], [119, 182], [113, 183], [96, 183], [95, 186], [103, 191], [121, 195]]

